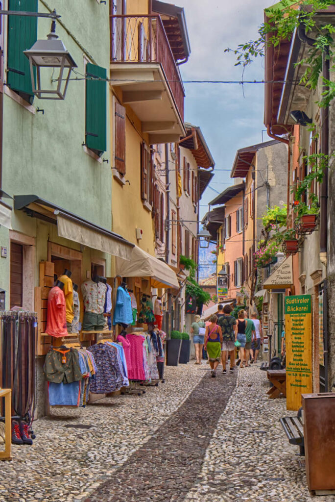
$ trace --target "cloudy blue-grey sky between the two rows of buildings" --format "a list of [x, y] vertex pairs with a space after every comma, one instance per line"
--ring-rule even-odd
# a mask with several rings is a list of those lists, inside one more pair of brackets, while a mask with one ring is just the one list
[[[241, 80], [242, 67], [234, 67], [235, 55], [227, 47], [257, 37], [263, 10], [277, 0], [176, 0], [184, 7], [191, 44], [189, 61], [180, 66], [184, 80]], [[264, 77], [264, 61], [255, 60], [244, 80]], [[206, 204], [229, 184], [229, 172], [236, 150], [261, 143], [263, 126], [263, 84], [185, 84], [185, 120], [201, 127], [215, 160], [216, 174], [202, 199]], [[263, 132], [263, 141], [268, 141]]]

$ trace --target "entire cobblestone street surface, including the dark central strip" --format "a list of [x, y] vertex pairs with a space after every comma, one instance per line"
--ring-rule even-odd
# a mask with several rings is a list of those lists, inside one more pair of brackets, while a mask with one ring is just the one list
[[141, 397], [38, 420], [33, 447], [14, 446], [2, 464], [1, 502], [312, 500], [279, 424], [285, 400], [267, 399], [259, 365], [209, 374], [206, 364], [167, 367]]

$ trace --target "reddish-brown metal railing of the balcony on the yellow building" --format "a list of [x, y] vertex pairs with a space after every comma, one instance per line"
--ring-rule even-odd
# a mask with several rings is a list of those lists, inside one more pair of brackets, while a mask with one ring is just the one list
[[160, 16], [110, 16], [110, 62], [160, 63], [184, 121], [184, 88]]

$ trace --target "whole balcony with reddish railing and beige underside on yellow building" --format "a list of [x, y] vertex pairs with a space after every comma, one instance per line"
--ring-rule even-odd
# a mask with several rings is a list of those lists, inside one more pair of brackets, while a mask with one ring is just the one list
[[122, 91], [149, 143], [185, 134], [185, 92], [160, 16], [110, 16], [111, 85]]

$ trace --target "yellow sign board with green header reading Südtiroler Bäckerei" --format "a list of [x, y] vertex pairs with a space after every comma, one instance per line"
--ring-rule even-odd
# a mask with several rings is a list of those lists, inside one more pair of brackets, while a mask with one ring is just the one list
[[286, 408], [298, 410], [301, 394], [312, 392], [312, 300], [285, 298]]

